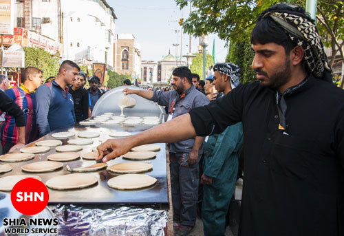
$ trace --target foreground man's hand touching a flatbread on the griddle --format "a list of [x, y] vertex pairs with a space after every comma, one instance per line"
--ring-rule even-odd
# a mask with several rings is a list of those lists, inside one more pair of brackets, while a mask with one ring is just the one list
[[96, 160], [103, 159], [103, 162], [107, 162], [127, 153], [130, 149], [127, 138], [109, 139], [97, 147], [98, 158]]

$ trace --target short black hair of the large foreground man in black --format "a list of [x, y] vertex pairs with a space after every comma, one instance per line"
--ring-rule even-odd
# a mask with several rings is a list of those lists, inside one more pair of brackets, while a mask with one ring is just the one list
[[257, 22], [250, 36], [252, 44], [276, 43], [284, 47], [287, 55], [296, 46], [289, 36], [271, 17], [265, 17]]

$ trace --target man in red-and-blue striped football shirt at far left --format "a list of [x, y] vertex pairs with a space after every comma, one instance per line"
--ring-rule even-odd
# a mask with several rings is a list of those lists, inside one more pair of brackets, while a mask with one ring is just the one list
[[[6, 90], [6, 94], [23, 110], [25, 116], [25, 144], [38, 138], [36, 128], [36, 103], [34, 92], [43, 83], [43, 71], [36, 67], [26, 67], [21, 74], [21, 86]], [[1, 128], [1, 146], [3, 153], [7, 153], [18, 142], [18, 132], [13, 116], [6, 114]]]

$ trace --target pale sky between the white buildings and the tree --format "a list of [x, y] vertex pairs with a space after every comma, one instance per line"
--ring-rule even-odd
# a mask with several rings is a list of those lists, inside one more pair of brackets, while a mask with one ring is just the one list
[[[164, 56], [171, 54], [180, 56], [189, 52], [189, 35], [180, 32], [178, 24], [181, 18], [189, 16], [189, 6], [180, 10], [174, 0], [107, 0], [114, 8], [116, 17], [116, 34], [133, 34], [136, 42], [141, 45], [142, 61], [160, 61]], [[178, 31], [177, 33], [175, 31]], [[225, 41], [216, 34], [208, 35], [208, 53], [213, 53], [213, 40], [215, 39], [215, 56], [218, 62], [224, 62], [228, 49]], [[181, 43], [182, 42], [182, 43]], [[197, 52], [200, 39], [191, 40], [191, 53]], [[179, 44], [178, 50], [173, 44]]]

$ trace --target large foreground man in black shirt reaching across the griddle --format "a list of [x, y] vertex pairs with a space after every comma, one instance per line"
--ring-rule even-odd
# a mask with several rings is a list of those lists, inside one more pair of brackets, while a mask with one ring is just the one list
[[[344, 235], [344, 92], [314, 21], [279, 3], [251, 34], [258, 81], [131, 138], [98, 147], [103, 161], [151, 142], [221, 133], [242, 121], [239, 235]], [[111, 152], [109, 152], [111, 151]]]

